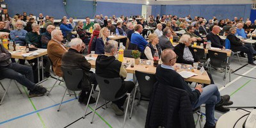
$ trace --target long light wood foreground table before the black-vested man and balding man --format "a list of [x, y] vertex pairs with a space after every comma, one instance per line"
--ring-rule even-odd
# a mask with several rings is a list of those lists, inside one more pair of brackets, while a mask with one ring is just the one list
[[[87, 55], [86, 57], [89, 57], [89, 55]], [[97, 58], [97, 54], [93, 54], [92, 58], [94, 59]], [[88, 61], [91, 63], [92, 68], [95, 68], [95, 60], [88, 60]], [[134, 58], [124, 58], [124, 63], [126, 63], [127, 61], [131, 63], [132, 61], [134, 61]], [[125, 70], [131, 74], [135, 74], [136, 70], [140, 72], [145, 72], [148, 74], [156, 74], [156, 67], [153, 66], [153, 61], [151, 61], [151, 65], [134, 65], [134, 67], [131, 67], [131, 64], [130, 64], [128, 65], [127, 68], [125, 68]], [[178, 70], [178, 72], [181, 72], [181, 71], [182, 70]], [[184, 80], [189, 82], [204, 83], [204, 84], [211, 83], [211, 79], [209, 78], [207, 72], [200, 74], [200, 70], [195, 70], [195, 72], [193, 73], [198, 74], [198, 76], [189, 77], [188, 79], [184, 79]]]

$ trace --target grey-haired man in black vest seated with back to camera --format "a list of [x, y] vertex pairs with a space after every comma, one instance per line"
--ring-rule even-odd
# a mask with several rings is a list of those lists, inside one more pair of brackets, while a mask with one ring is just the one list
[[[106, 42], [104, 55], [99, 55], [96, 60], [95, 73], [101, 77], [115, 78], [120, 77], [122, 79], [122, 87], [116, 93], [116, 97], [124, 95], [124, 93], [131, 93], [134, 88], [134, 83], [132, 81], [124, 81], [127, 76], [127, 72], [122, 65], [122, 62], [116, 60], [115, 54], [118, 51], [118, 42], [115, 40], [109, 40]], [[113, 101], [111, 107], [114, 109], [115, 114], [118, 116], [124, 115], [124, 102], [127, 95], [122, 97], [122, 99]]]

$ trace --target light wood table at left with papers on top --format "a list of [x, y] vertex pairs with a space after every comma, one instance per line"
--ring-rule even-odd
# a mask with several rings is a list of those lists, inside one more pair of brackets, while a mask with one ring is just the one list
[[[15, 59], [23, 59], [23, 60], [33, 60], [37, 58], [37, 70], [38, 70], [38, 83], [41, 83], [40, 81], [40, 65], [39, 65], [39, 58], [41, 57], [42, 63], [44, 63], [43, 56], [47, 54], [47, 49], [38, 49], [36, 51], [29, 51], [31, 53], [30, 56], [22, 56], [23, 54], [28, 54], [27, 52], [24, 52], [24, 49], [26, 47], [20, 46], [17, 47], [17, 51], [9, 51], [12, 54], [12, 58]], [[38, 54], [33, 55], [33, 53], [37, 52]], [[44, 81], [44, 68], [42, 68], [42, 79]]]

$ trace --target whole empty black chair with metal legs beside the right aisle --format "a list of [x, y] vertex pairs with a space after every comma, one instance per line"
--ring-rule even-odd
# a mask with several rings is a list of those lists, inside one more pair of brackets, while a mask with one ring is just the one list
[[[210, 68], [211, 67], [215, 67], [215, 68], [225, 68], [225, 74], [223, 79], [226, 79], [226, 72], [227, 72], [227, 68], [229, 67], [228, 70], [228, 75], [229, 75], [229, 82], [230, 82], [230, 64], [226, 63], [225, 61], [227, 60], [227, 53], [225, 52], [218, 52], [218, 51], [212, 51], [212, 50], [208, 50], [208, 54], [210, 57]], [[211, 69], [210, 69], [211, 70]], [[212, 70], [211, 70], [212, 72]], [[226, 84], [227, 81], [225, 81]], [[224, 86], [225, 86], [224, 84]]]

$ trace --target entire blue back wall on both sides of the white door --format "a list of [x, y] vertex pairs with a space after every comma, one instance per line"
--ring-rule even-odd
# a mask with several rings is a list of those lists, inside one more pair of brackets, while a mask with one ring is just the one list
[[[54, 16], [55, 19], [61, 19], [64, 15], [68, 17], [93, 17], [95, 14], [103, 15], [141, 15], [142, 4], [128, 3], [108, 3], [97, 2], [97, 7], [93, 5], [93, 1], [84, 0], [67, 0], [67, 5], [64, 6], [63, 0], [6, 0], [8, 11], [11, 16], [15, 13], [33, 13], [38, 16], [39, 13], [44, 15]], [[234, 17], [250, 17], [251, 4], [195, 4], [195, 5], [152, 5], [152, 15], [172, 14], [179, 17], [202, 16], [206, 19], [212, 19], [216, 16], [218, 19], [234, 19]]]

